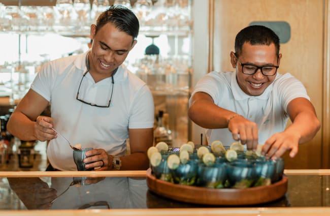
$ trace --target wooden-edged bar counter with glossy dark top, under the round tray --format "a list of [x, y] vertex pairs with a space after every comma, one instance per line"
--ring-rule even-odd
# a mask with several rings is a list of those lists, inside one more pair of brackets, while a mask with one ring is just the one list
[[2, 171], [0, 215], [330, 215], [330, 170], [285, 174], [288, 190], [279, 200], [223, 207], [160, 197], [148, 190], [146, 171]]

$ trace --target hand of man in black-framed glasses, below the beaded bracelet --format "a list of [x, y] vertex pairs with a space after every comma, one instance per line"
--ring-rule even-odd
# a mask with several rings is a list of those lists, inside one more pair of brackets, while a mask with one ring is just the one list
[[258, 146], [258, 126], [255, 122], [245, 119], [241, 115], [229, 118], [228, 130], [232, 132], [233, 139], [246, 144], [247, 149], [256, 149]]

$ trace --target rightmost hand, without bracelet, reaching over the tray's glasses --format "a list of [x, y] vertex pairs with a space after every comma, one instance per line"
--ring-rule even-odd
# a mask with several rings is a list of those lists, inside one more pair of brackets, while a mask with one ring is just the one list
[[293, 158], [298, 153], [299, 134], [281, 132], [276, 133], [269, 138], [262, 147], [261, 154], [266, 159], [279, 159], [287, 150], [290, 151], [290, 157]]

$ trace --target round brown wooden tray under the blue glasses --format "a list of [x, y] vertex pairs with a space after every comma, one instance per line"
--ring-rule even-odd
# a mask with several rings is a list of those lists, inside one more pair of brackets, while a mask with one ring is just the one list
[[247, 189], [209, 189], [184, 186], [156, 179], [147, 170], [147, 186], [150, 191], [173, 200], [208, 205], [253, 205], [283, 197], [287, 191], [287, 177], [271, 184]]

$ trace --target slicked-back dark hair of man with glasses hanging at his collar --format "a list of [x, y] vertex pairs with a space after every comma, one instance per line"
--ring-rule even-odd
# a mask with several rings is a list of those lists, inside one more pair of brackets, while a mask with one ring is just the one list
[[112, 23], [121, 32], [125, 32], [136, 39], [139, 35], [139, 20], [135, 14], [120, 5], [110, 6], [108, 10], [103, 12], [96, 21], [96, 32], [107, 23]]

